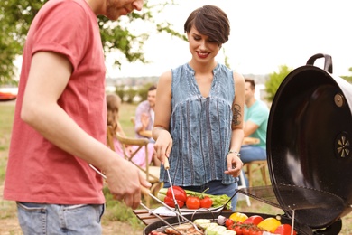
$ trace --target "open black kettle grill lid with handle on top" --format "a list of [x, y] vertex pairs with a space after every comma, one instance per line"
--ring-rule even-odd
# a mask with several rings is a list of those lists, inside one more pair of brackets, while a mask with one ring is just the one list
[[[319, 58], [325, 58], [324, 70], [313, 66]], [[331, 73], [325, 54], [292, 71], [273, 99], [267, 132], [277, 201], [317, 229], [352, 210], [352, 85]]]

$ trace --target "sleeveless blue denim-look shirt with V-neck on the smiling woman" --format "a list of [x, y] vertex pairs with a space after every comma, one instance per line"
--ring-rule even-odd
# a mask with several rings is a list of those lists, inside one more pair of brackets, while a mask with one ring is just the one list
[[[215, 180], [235, 183], [233, 176], [224, 173], [232, 134], [233, 71], [218, 63], [207, 98], [201, 95], [188, 63], [171, 73], [172, 184], [200, 186]], [[160, 176], [161, 181], [169, 181], [163, 167]]]

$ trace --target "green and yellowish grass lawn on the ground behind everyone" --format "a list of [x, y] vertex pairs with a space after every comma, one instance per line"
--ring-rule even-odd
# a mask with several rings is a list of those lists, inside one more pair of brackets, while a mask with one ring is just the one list
[[[125, 134], [127, 136], [134, 136], [134, 128], [132, 126], [132, 122], [130, 120], [131, 117], [134, 116], [135, 105], [123, 104], [121, 108], [121, 124], [124, 127]], [[2, 186], [5, 180], [5, 166], [7, 162], [8, 156], [8, 146], [10, 143], [11, 129], [13, 123], [14, 116], [14, 105], [11, 103], [0, 102], [0, 185]], [[253, 179], [255, 186], [263, 185], [263, 181], [261, 179], [261, 175], [259, 173], [255, 173]], [[2, 190], [2, 187], [0, 188]], [[142, 231], [144, 225], [138, 221], [138, 219], [134, 216], [131, 209], [126, 208], [125, 205], [121, 202], [116, 202], [111, 198], [111, 195], [108, 193], [108, 190], [105, 189], [105, 194], [107, 197], [107, 212], [103, 217], [103, 227], [110, 226], [109, 224], [114, 223], [116, 221], [123, 221], [128, 223], [134, 230]], [[14, 203], [6, 202], [2, 200], [2, 192], [0, 192], [0, 221], [5, 221], [8, 218], [16, 217], [16, 210], [14, 207]], [[264, 202], [256, 201], [255, 199], [250, 199], [251, 206], [248, 207], [245, 201], [239, 201], [237, 205], [237, 211], [247, 211], [247, 212], [257, 212], [257, 213], [267, 213], [267, 214], [276, 214], [282, 213], [283, 211], [273, 208]], [[153, 203], [152, 207], [160, 206], [157, 203]], [[317, 218], [319, 220], [319, 218]], [[348, 214], [343, 219], [343, 229], [339, 234], [351, 234], [352, 233], [352, 214]], [[2, 223], [2, 222], [1, 222]], [[1, 231], [1, 230], [0, 230]], [[1, 233], [1, 232], [0, 232]], [[116, 232], [115, 232], [116, 233]], [[6, 234], [18, 234], [9, 232]], [[109, 234], [109, 233], [107, 233]], [[116, 233], [117, 234], [117, 233]], [[129, 233], [129, 234], [132, 234]], [[134, 233], [134, 234], [139, 234]]]

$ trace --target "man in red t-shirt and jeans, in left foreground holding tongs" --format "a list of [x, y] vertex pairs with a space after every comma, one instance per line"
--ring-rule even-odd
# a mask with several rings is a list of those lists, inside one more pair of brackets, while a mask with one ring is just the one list
[[[106, 68], [97, 15], [116, 20], [143, 0], [51, 0], [36, 14], [23, 65], [5, 174], [23, 234], [101, 234], [103, 177], [137, 208], [150, 187], [106, 146]], [[95, 170], [93, 167], [95, 167]]]

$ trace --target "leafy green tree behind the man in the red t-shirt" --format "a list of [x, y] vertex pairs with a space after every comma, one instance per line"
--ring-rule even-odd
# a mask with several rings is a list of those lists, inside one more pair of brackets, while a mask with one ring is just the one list
[[[22, 54], [23, 45], [35, 14], [48, 0], [2, 0], [0, 1], [0, 85], [14, 83], [14, 59]], [[153, 15], [162, 11], [165, 5], [173, 5], [173, 0], [165, 0], [162, 4], [149, 0], [144, 4], [141, 12], [133, 12], [127, 17], [121, 17], [112, 22], [104, 16], [98, 17], [101, 40], [104, 52], [114, 52], [119, 55], [116, 65], [121, 61], [142, 61], [144, 58], [143, 46], [151, 33], [170, 33], [185, 40], [185, 36], [172, 30], [167, 22], [155, 22]], [[59, 16], [58, 16], [59, 17]], [[146, 32], [131, 31], [131, 25], [144, 24]]]

